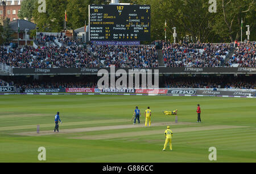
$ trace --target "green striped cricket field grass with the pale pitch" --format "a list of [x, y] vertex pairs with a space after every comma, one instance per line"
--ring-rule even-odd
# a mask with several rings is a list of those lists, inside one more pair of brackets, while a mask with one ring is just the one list
[[[141, 125], [131, 123], [135, 106]], [[147, 106], [153, 126], [145, 128]], [[255, 106], [254, 98], [0, 96], [0, 161], [41, 162], [38, 148], [45, 147], [46, 162], [210, 162], [209, 147], [216, 147], [216, 162], [256, 162]], [[179, 124], [162, 113], [174, 109]], [[63, 124], [53, 134], [56, 111]], [[172, 151], [162, 151], [164, 123], [174, 132]]]

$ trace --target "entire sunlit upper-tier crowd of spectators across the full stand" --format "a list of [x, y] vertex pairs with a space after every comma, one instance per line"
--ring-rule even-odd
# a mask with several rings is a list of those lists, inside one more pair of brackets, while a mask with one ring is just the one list
[[[58, 40], [58, 45], [55, 43]], [[0, 47], [0, 62], [14, 68], [158, 68], [157, 49], [163, 51], [165, 67], [256, 67], [255, 42], [239, 44], [229, 61], [232, 44], [179, 43], [156, 41], [152, 45], [94, 45], [80, 47], [62, 35], [37, 38], [38, 48], [31, 46], [6, 49]], [[48, 44], [46, 44], [48, 43]]]

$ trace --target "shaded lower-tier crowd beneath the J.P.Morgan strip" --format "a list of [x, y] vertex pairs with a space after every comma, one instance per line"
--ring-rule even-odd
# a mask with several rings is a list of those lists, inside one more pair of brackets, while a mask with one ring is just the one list
[[[5, 77], [0, 80], [0, 86], [15, 86], [17, 89], [31, 88], [97, 88], [97, 76], [42, 76], [36, 80], [20, 77]], [[223, 76], [162, 76], [159, 78], [159, 88], [226, 88], [226, 89], [256, 89], [256, 76], [223, 75]]]

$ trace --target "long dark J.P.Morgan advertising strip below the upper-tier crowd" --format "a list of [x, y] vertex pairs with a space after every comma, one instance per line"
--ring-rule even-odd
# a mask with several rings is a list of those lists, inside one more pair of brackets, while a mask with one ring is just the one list
[[[67, 74], [97, 74], [100, 69], [106, 69], [110, 73], [110, 68], [14, 68], [15, 76], [19, 75], [67, 75]], [[159, 74], [256, 74], [256, 68], [115, 68], [147, 72], [159, 69]]]

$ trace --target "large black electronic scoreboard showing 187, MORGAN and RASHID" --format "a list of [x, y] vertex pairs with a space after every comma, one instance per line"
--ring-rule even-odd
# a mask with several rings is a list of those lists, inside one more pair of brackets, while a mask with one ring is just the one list
[[150, 13], [150, 5], [89, 5], [89, 39], [148, 41]]

